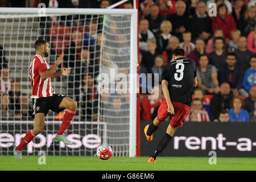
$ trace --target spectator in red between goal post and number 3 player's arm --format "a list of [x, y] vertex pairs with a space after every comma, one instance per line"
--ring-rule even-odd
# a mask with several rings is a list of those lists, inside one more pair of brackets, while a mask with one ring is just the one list
[[147, 120], [147, 121], [151, 121], [152, 120], [152, 114], [154, 112], [154, 109], [158, 106], [160, 106], [161, 104], [161, 98], [160, 98], [160, 89], [159, 89], [159, 85], [158, 86], [154, 86], [154, 88], [152, 88], [152, 92], [151, 95], [153, 96], [154, 94], [158, 94], [158, 98], [156, 98], [155, 100], [149, 100], [146, 99], [145, 101], [143, 101], [142, 103], [142, 119]]

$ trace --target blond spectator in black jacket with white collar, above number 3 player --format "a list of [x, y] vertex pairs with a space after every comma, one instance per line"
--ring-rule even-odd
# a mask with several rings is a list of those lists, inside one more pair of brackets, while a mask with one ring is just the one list
[[160, 53], [167, 48], [169, 40], [171, 39], [172, 24], [168, 20], [164, 20], [160, 25], [162, 34], [156, 36], [157, 49]]

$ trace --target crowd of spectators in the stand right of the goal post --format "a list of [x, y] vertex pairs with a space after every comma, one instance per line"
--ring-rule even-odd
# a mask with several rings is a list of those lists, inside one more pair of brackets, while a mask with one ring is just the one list
[[[216, 16], [208, 15], [209, 3], [216, 3]], [[140, 8], [142, 73], [155, 73], [157, 57], [166, 65], [177, 46], [195, 60], [198, 85], [186, 121], [255, 121], [255, 1], [145, 0]], [[142, 119], [155, 106], [154, 119], [158, 104], [143, 101]]]

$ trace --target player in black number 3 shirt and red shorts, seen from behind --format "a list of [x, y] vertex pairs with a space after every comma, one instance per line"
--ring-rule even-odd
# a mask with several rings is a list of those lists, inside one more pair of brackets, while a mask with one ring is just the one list
[[161, 77], [164, 100], [158, 109], [157, 117], [144, 128], [147, 140], [153, 139], [152, 133], [167, 117], [171, 116], [171, 121], [154, 154], [148, 159], [148, 163], [155, 162], [156, 157], [174, 136], [177, 127], [183, 126], [191, 106], [193, 88], [197, 85], [196, 64], [184, 55], [184, 50], [177, 47], [174, 49], [172, 61], [164, 67]]

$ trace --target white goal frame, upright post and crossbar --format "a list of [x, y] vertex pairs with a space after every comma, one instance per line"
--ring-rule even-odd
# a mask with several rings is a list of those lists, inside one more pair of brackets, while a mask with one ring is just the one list
[[[0, 16], [2, 16], [0, 19], [1, 20], [1, 26], [6, 26], [6, 24], [8, 23], [7, 20], [5, 21], [5, 17], [6, 18], [19, 18], [19, 17], [42, 17], [42, 16], [68, 16], [68, 15], [104, 15], [104, 20], [105, 20], [105, 16], [122, 16], [122, 15], [128, 15], [130, 16], [130, 32], [129, 32], [129, 56], [130, 56], [130, 60], [129, 63], [127, 63], [127, 69], [129, 69], [129, 109], [127, 109], [127, 111], [129, 111], [129, 146], [127, 146], [128, 148], [128, 156], [130, 157], [134, 157], [136, 156], [136, 146], [137, 146], [137, 63], [138, 63], [138, 10], [137, 9], [67, 9], [67, 8], [5, 8], [5, 7], [1, 7], [0, 8]], [[106, 18], [107, 20], [109, 20], [110, 18]], [[103, 21], [104, 21], [103, 20]], [[9, 22], [10, 23], [10, 22]], [[15, 21], [11, 22], [11, 23], [15, 23]], [[18, 23], [22, 23], [22, 22], [18, 22]], [[103, 23], [104, 24], [104, 23]], [[20, 26], [20, 24], [18, 25]], [[25, 25], [26, 26], [26, 22]], [[12, 32], [13, 30], [11, 30]], [[38, 30], [39, 32], [39, 30]], [[3, 35], [3, 42], [0, 42], [0, 44], [5, 44], [5, 36], [6, 32], [4, 32], [3, 34], [1, 34], [1, 36]], [[18, 32], [19, 34], [19, 32]], [[102, 34], [104, 34], [102, 32]], [[15, 36], [16, 34], [13, 34], [11, 36]], [[40, 35], [38, 35], [40, 36]], [[18, 39], [18, 38], [17, 38]], [[2, 41], [2, 39], [1, 39]], [[32, 44], [32, 42], [31, 42]], [[20, 49], [28, 49], [28, 47], [20, 47]], [[5, 49], [5, 46], [3, 46], [3, 49]], [[30, 47], [30, 49], [34, 49], [32, 46]], [[7, 50], [8, 51], [8, 50]], [[11, 50], [9, 51], [11, 52]], [[30, 53], [30, 51], [28, 51]], [[32, 53], [32, 52], [31, 52]], [[15, 54], [15, 53], [13, 53]], [[24, 53], [23, 51], [22, 55], [23, 57], [26, 56], [27, 53]], [[102, 54], [102, 49], [101, 49], [101, 54]], [[35, 53], [34, 53], [35, 55]], [[32, 55], [32, 56], [34, 56]], [[15, 57], [15, 55], [10, 55], [9, 56], [13, 56]], [[17, 57], [18, 55], [16, 55]], [[31, 56], [31, 55], [29, 55]], [[15, 58], [16, 59], [16, 58]], [[102, 56], [101, 56], [102, 59]], [[24, 60], [24, 61], [28, 61], [28, 60]], [[102, 60], [100, 60], [101, 63]], [[16, 62], [15, 62], [16, 63]], [[9, 63], [10, 64], [10, 63]], [[17, 63], [16, 63], [17, 64]], [[16, 68], [18, 69], [18, 68]], [[15, 70], [16, 70], [15, 69]], [[14, 71], [15, 72], [15, 71]], [[15, 73], [14, 73], [15, 75]], [[135, 76], [135, 77], [134, 77]], [[67, 81], [67, 80], [66, 80]], [[28, 81], [28, 88], [30, 88], [30, 82]], [[53, 89], [54, 88], [54, 84], [53, 84]], [[60, 89], [61, 90], [61, 89]], [[62, 93], [57, 93], [57, 94], [62, 94]], [[31, 96], [31, 93], [28, 92], [28, 96]], [[99, 98], [100, 99], [100, 98]], [[30, 100], [31, 102], [31, 100]], [[100, 107], [100, 106], [99, 106]], [[99, 114], [99, 113], [98, 113]], [[50, 121], [51, 118], [49, 118], [48, 121]], [[99, 119], [97, 122], [101, 122]], [[104, 121], [105, 122], [105, 121]], [[29, 122], [28, 122], [29, 123]], [[8, 122], [0, 122], [0, 134], [1, 133], [5, 133], [5, 131], [2, 131], [1, 125], [8, 125]], [[100, 126], [100, 125], [98, 125]], [[105, 125], [104, 125], [105, 126]], [[108, 130], [108, 122], [106, 122], [106, 127]], [[45, 130], [46, 128], [44, 128]], [[118, 148], [118, 147], [117, 147]], [[114, 151], [115, 152], [115, 151]], [[1, 154], [1, 153], [0, 153]], [[122, 156], [125, 153], [120, 154], [120, 156]], [[126, 154], [125, 154], [126, 155]]]

